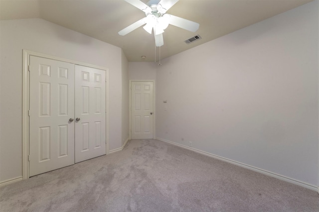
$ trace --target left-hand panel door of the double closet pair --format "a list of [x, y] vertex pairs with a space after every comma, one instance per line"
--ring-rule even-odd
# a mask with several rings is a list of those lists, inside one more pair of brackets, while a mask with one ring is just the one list
[[74, 64], [30, 56], [30, 176], [74, 164]]

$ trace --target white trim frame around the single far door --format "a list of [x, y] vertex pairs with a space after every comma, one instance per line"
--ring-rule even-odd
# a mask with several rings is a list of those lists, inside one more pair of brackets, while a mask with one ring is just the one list
[[156, 138], [156, 83], [155, 80], [130, 80], [130, 86], [129, 86], [129, 93], [130, 93], [130, 107], [129, 107], [129, 111], [130, 111], [130, 118], [129, 118], [129, 122], [130, 122], [130, 128], [129, 128], [129, 133], [130, 133], [130, 140], [132, 139], [131, 135], [132, 135], [132, 82], [153, 82], [153, 139]]

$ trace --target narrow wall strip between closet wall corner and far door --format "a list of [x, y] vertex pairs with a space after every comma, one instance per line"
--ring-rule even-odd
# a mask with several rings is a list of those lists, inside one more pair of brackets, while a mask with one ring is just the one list
[[122, 51], [122, 143], [129, 138], [129, 62]]

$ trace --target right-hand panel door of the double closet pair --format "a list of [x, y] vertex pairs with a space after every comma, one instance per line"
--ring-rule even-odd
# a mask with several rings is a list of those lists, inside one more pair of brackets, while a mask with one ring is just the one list
[[75, 65], [75, 163], [106, 154], [105, 71]]

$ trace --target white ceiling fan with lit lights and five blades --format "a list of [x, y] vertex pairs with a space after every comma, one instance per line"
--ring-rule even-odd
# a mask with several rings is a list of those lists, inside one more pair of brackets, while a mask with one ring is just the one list
[[168, 24], [191, 32], [195, 32], [199, 27], [199, 23], [166, 13], [178, 0], [150, 0], [147, 4], [141, 0], [125, 1], [145, 12], [146, 17], [119, 31], [120, 35], [126, 35], [145, 24], [143, 28], [147, 32], [152, 34], [152, 31], [154, 31], [156, 46], [162, 46], [164, 44], [162, 33]]

